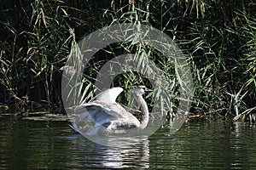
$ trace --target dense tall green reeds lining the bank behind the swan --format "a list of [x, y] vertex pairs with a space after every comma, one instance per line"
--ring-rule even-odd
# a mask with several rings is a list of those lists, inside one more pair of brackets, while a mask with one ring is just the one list
[[[255, 122], [255, 3], [249, 1], [20, 1], [0, 3], [0, 102], [29, 107], [32, 101], [61, 107], [61, 67], [72, 43], [103, 26], [136, 23], [164, 31], [183, 49], [195, 83], [192, 116], [230, 116]], [[75, 39], [69, 29], [74, 29]], [[73, 51], [71, 51], [73, 52]], [[102, 65], [119, 54], [147, 56], [170, 83], [170, 108], [180, 100], [173, 63], [154, 47], [120, 42], [91, 59], [79, 90], [83, 101], [94, 95]], [[129, 91], [147, 78], [126, 71], [113, 86]], [[128, 91], [121, 99], [126, 103]], [[153, 104], [155, 96], [148, 96]], [[126, 99], [126, 100], [125, 100]], [[81, 100], [81, 101], [82, 101]], [[150, 102], [149, 102], [150, 103]]]

